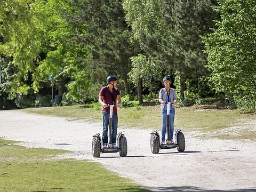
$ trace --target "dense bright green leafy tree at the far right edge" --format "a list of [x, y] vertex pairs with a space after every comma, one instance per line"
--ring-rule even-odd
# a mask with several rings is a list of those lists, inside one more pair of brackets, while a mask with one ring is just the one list
[[214, 89], [225, 92], [236, 107], [252, 111], [256, 100], [255, 6], [253, 0], [220, 0], [215, 8], [221, 17], [215, 22], [218, 28], [205, 38]]

